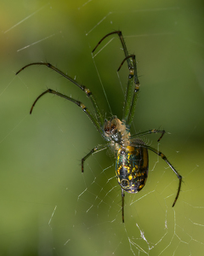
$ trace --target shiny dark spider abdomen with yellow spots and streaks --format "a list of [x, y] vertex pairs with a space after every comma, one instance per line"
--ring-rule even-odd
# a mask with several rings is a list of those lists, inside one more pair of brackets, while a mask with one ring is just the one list
[[147, 148], [127, 146], [116, 154], [117, 181], [128, 193], [137, 193], [144, 187], [148, 176]]

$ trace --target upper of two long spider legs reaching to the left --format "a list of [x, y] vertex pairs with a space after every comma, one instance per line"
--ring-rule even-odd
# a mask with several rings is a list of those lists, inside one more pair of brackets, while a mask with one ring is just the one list
[[71, 77], [69, 77], [68, 75], [66, 75], [62, 71], [60, 71], [57, 67], [54, 67], [52, 64], [47, 63], [47, 62], [34, 62], [34, 63], [26, 65], [25, 67], [20, 68], [20, 70], [15, 74], [17, 75], [22, 70], [24, 70], [26, 67], [30, 67], [30, 66], [33, 66], [33, 65], [43, 65], [43, 66], [49, 67], [49, 68], [53, 69], [55, 72], [59, 73], [61, 76], [65, 77], [65, 79], [70, 80], [71, 83], [76, 84], [81, 90], [83, 90], [87, 94], [88, 98], [92, 102], [99, 125], [102, 126], [104, 124], [104, 119], [102, 117], [102, 114], [100, 113], [99, 107], [97, 105], [97, 102], [96, 102], [95, 97], [92, 94], [92, 92], [86, 86], [84, 86], [82, 84], [78, 84], [76, 80], [71, 79]]

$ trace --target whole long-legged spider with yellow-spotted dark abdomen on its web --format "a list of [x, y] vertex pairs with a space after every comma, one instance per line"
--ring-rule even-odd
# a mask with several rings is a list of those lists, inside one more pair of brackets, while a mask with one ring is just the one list
[[[81, 90], [86, 93], [86, 95], [93, 104], [94, 113], [91, 113], [82, 102], [79, 102], [70, 96], [66, 96], [52, 89], [45, 90], [40, 96], [37, 96], [37, 99], [35, 100], [35, 102], [33, 102], [31, 106], [30, 113], [32, 113], [34, 106], [42, 96], [47, 93], [52, 93], [77, 104], [77, 106], [82, 108], [82, 111], [88, 115], [88, 118], [92, 121], [97, 131], [99, 131], [101, 137], [103, 137], [107, 143], [93, 148], [88, 154], [86, 154], [82, 158], [82, 172], [84, 161], [87, 160], [90, 155], [105, 148], [111, 148], [114, 151], [116, 156], [116, 178], [122, 189], [122, 222], [124, 223], [124, 192], [133, 194], [143, 189], [144, 184], [146, 183], [146, 179], [148, 177], [149, 170], [148, 150], [153, 151], [157, 155], [161, 156], [161, 159], [167, 162], [167, 165], [171, 167], [173, 172], [178, 177], [178, 191], [173, 201], [172, 207], [174, 207], [176, 201], [178, 200], [178, 195], [181, 189], [182, 176], [176, 171], [176, 169], [169, 162], [169, 160], [167, 160], [167, 157], [164, 154], [156, 150], [156, 148], [152, 148], [149, 145], [145, 144], [142, 139], [139, 138], [151, 133], [161, 133], [161, 137], [163, 137], [165, 131], [153, 129], [139, 132], [133, 135], [131, 135], [130, 133], [130, 127], [133, 122], [133, 116], [140, 86], [135, 55], [128, 55], [127, 47], [121, 31], [115, 31], [105, 35], [105, 37], [102, 38], [95, 46], [94, 50], [98, 48], [99, 44], [101, 44], [105, 38], [114, 34], [117, 34], [120, 38], [122, 49], [125, 55], [125, 58], [122, 61], [117, 72], [121, 69], [125, 61], [127, 61], [127, 67], [129, 70], [122, 119], [118, 119], [116, 115], [112, 116], [111, 119], [104, 119], [92, 92], [86, 86], [77, 83], [75, 79], [71, 79], [71, 77], [61, 72], [57, 67], [54, 67], [48, 62], [34, 62], [28, 64], [25, 67], [22, 67], [16, 73], [16, 75], [24, 70], [26, 67], [30, 67], [33, 65], [47, 66], [65, 77], [65, 79], [70, 80], [71, 83], [76, 84]], [[94, 50], [92, 51], [92, 53], [94, 53]], [[161, 140], [161, 137], [158, 139], [158, 142]]]

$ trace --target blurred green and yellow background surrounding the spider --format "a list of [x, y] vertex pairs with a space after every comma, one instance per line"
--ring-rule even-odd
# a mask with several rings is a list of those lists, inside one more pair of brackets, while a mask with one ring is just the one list
[[[0, 255], [202, 255], [204, 6], [201, 1], [1, 0]], [[57, 96], [32, 102], [47, 88], [91, 105], [83, 92], [47, 67], [48, 61], [92, 90], [109, 117], [122, 116], [127, 67], [116, 70], [122, 30], [137, 56], [139, 102], [133, 131], [165, 129], [160, 148], [184, 177], [150, 153], [144, 189], [126, 195], [125, 224], [114, 158], [80, 160], [104, 143], [80, 108]], [[98, 72], [98, 73], [97, 73]], [[122, 86], [121, 86], [122, 84]], [[157, 162], [158, 161], [158, 162]], [[143, 234], [143, 236], [142, 236]], [[145, 239], [144, 239], [145, 237]]]

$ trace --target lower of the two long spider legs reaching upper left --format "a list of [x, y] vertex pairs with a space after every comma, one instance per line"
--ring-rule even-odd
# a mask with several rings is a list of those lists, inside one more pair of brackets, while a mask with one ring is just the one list
[[100, 126], [98, 120], [94, 117], [94, 114], [91, 113], [91, 112], [88, 110], [88, 108], [86, 108], [85, 105], [83, 105], [82, 102], [79, 102], [79, 101], [77, 101], [77, 100], [75, 100], [75, 99], [73, 99], [73, 98], [71, 98], [71, 97], [69, 97], [69, 96], [65, 96], [64, 94], [61, 94], [61, 93], [59, 93], [59, 92], [57, 92], [57, 91], [55, 91], [55, 90], [52, 90], [52, 89], [45, 90], [44, 92], [42, 92], [42, 94], [41, 94], [40, 96], [37, 97], [37, 99], [35, 100], [35, 102], [33, 102], [32, 106], [31, 106], [31, 111], [30, 111], [30, 113], [32, 113], [32, 109], [35, 107], [37, 101], [38, 101], [43, 95], [45, 95], [45, 94], [47, 94], [47, 93], [55, 94], [55, 95], [57, 95], [57, 96], [60, 96], [60, 97], [62, 97], [62, 98], [65, 98], [65, 100], [68, 100], [68, 101], [70, 101], [70, 102], [73, 102], [73, 103], [77, 104], [77, 106], [80, 107], [80, 108], [82, 108], [83, 112], [88, 115], [89, 119], [91, 119], [91, 121], [92, 121], [93, 124], [95, 125], [96, 129], [99, 131], [99, 133], [100, 133], [101, 136], [103, 137], [103, 132], [102, 132], [102, 130], [101, 130], [101, 126]]

